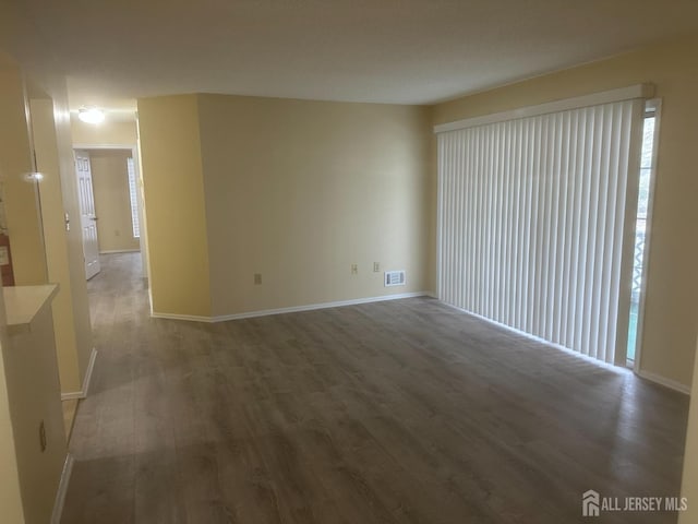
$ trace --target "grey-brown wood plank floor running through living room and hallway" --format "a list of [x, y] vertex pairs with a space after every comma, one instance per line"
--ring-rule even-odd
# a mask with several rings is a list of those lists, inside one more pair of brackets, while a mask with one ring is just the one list
[[682, 394], [430, 298], [151, 319], [139, 264], [88, 285], [63, 524], [564, 524], [588, 489], [678, 495]]

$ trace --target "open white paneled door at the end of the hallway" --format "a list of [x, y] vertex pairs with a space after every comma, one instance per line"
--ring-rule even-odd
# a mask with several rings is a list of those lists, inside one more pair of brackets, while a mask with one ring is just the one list
[[75, 171], [77, 174], [80, 225], [85, 253], [85, 275], [89, 279], [99, 273], [99, 242], [97, 241], [97, 214], [95, 213], [95, 196], [92, 190], [89, 153], [86, 151], [75, 151]]

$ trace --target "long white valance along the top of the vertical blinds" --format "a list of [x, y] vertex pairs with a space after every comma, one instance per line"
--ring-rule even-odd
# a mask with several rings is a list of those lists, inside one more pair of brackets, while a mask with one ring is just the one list
[[652, 96], [654, 96], [654, 85], [636, 84], [628, 87], [621, 87], [618, 90], [603, 91], [601, 93], [566, 98], [564, 100], [549, 102], [537, 106], [521, 107], [510, 111], [494, 112], [492, 115], [483, 115], [481, 117], [466, 118], [464, 120], [456, 120], [455, 122], [442, 123], [434, 126], [434, 133], [445, 133], [447, 131], [505, 122], [519, 118], [538, 117], [550, 112], [567, 111], [570, 109], [599, 106], [601, 104], [610, 104], [613, 102], [631, 100], [634, 98], [651, 98]]

